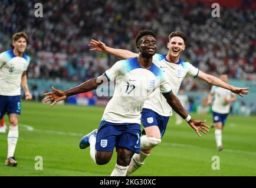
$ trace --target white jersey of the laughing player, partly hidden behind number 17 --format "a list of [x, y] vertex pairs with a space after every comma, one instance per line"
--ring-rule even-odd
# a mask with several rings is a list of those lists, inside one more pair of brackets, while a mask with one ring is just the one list
[[[182, 80], [186, 75], [196, 77], [198, 68], [182, 59], [178, 63], [171, 63], [166, 59], [166, 55], [156, 53], [153, 56], [153, 63], [163, 70], [167, 82], [172, 88], [172, 92], [177, 95]], [[151, 109], [162, 116], [172, 116], [172, 108], [166, 102], [165, 97], [156, 89], [144, 103], [143, 108]]]

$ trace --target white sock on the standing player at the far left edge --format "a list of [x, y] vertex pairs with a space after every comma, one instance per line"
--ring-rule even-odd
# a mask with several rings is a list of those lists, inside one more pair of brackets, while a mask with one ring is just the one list
[[17, 145], [18, 137], [19, 137], [18, 125], [17, 126], [10, 125], [9, 133], [7, 136], [7, 142], [8, 142], [7, 158], [14, 156], [15, 147]]

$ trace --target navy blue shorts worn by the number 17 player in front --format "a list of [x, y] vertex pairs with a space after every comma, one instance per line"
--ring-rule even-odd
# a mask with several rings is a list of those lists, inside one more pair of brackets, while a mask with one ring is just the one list
[[113, 152], [114, 147], [140, 153], [140, 125], [138, 123], [111, 123], [101, 121], [96, 137], [96, 150]]

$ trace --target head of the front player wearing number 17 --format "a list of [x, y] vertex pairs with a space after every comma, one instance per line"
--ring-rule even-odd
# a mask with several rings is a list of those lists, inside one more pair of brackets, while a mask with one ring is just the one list
[[151, 58], [156, 53], [156, 39], [152, 35], [142, 36], [137, 49], [145, 58]]

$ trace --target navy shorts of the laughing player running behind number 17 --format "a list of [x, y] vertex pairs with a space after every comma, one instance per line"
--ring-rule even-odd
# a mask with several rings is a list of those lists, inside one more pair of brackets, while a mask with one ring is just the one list
[[169, 120], [169, 116], [161, 116], [153, 110], [143, 108], [142, 109], [142, 125], [143, 127], [150, 127], [156, 125], [159, 127], [161, 138], [165, 134], [166, 126]]

